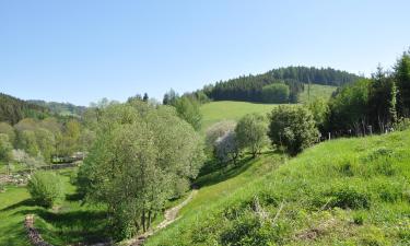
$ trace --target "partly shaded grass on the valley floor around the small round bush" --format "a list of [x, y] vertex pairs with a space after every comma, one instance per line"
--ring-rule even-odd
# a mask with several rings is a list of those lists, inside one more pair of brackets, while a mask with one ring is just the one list
[[35, 206], [25, 187], [7, 187], [0, 194], [0, 245], [30, 245], [24, 230], [24, 216], [35, 214], [35, 226], [52, 245], [102, 242], [107, 235], [104, 208], [82, 206], [70, 183], [75, 168], [58, 171], [66, 198], [52, 209]]

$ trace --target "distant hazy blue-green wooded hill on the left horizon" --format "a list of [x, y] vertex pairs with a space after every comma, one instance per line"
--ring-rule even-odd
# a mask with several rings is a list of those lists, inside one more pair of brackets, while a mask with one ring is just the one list
[[47, 107], [51, 113], [61, 116], [81, 116], [86, 109], [84, 106], [77, 106], [70, 103], [45, 102], [42, 99], [30, 99], [27, 102]]

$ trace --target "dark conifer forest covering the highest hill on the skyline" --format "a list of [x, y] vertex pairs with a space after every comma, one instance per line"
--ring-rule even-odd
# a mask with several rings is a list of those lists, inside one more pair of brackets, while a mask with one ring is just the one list
[[[265, 103], [296, 103], [297, 95], [304, 90], [304, 84], [323, 84], [340, 86], [356, 81], [360, 77], [332, 68], [308, 68], [308, 67], [288, 67], [270, 70], [262, 74], [244, 75], [227, 81], [216, 82], [203, 89], [203, 92], [214, 101], [247, 101]], [[276, 99], [268, 99], [263, 96], [263, 87], [274, 84], [267, 89], [268, 97], [278, 94]], [[283, 86], [288, 85], [288, 86]], [[277, 92], [276, 92], [277, 91]], [[279, 92], [278, 92], [279, 91]], [[280, 98], [284, 98], [279, 102]], [[274, 97], [274, 96], [273, 96]]]

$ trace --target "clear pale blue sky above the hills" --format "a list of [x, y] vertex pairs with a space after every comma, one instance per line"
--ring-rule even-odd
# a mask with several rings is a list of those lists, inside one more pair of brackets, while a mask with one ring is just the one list
[[289, 65], [370, 74], [410, 46], [408, 0], [0, 1], [0, 91], [162, 98]]

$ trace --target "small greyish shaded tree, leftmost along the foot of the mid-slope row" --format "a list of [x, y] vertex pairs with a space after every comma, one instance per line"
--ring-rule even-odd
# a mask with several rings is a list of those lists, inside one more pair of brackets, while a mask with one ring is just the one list
[[239, 145], [236, 138], [235, 131], [229, 131], [224, 136], [216, 139], [214, 143], [215, 156], [221, 162], [233, 161], [236, 164], [236, 160], [239, 157]]

